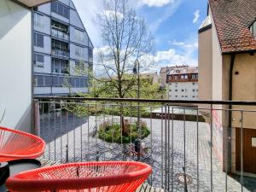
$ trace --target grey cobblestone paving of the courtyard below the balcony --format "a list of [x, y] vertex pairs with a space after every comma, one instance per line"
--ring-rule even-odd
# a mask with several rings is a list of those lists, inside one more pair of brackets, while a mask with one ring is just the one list
[[[127, 145], [105, 143], [93, 137], [96, 125], [101, 124], [104, 119], [119, 122], [117, 117], [79, 119], [68, 115], [42, 120], [41, 137], [50, 142], [44, 158], [61, 162], [129, 159], [124, 155]], [[197, 189], [211, 191], [211, 143], [207, 124], [199, 123], [197, 127], [196, 122], [173, 121], [172, 127], [170, 121], [170, 132], [167, 134], [168, 126], [165, 125], [168, 125], [168, 122], [160, 119], [143, 119], [143, 121], [151, 129], [150, 136], [143, 140], [146, 147], [152, 148], [152, 157], [147, 160], [142, 159], [154, 169], [152, 176], [148, 178], [148, 183], [169, 191], [184, 191], [184, 184], [177, 180], [177, 176], [184, 173], [183, 167], [185, 167], [186, 174], [191, 177], [191, 183], [187, 185], [188, 191], [197, 191]], [[63, 136], [59, 137], [61, 135]], [[168, 137], [169, 145], [166, 143]], [[168, 156], [170, 158], [167, 158]], [[212, 150], [212, 191], [225, 191], [225, 178], [225, 173], [221, 171], [218, 159]], [[243, 191], [255, 189], [253, 183], [256, 179], [248, 179], [245, 177], [245, 183], [248, 181], [249, 184], [247, 188], [243, 188]], [[227, 191], [241, 191], [241, 184], [236, 179], [228, 176], [227, 181]]]

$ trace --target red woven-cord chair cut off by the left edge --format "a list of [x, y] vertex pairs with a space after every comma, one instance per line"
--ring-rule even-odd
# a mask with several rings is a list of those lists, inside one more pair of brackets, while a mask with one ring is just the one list
[[32, 134], [0, 127], [0, 162], [34, 159], [44, 153], [45, 143]]

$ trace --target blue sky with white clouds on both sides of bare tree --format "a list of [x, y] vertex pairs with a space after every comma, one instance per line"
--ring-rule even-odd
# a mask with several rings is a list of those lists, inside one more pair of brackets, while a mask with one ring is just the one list
[[[104, 0], [73, 0], [95, 49], [101, 49], [96, 15]], [[155, 38], [156, 68], [197, 66], [198, 29], [207, 16], [207, 0], [128, 0], [142, 15]]]

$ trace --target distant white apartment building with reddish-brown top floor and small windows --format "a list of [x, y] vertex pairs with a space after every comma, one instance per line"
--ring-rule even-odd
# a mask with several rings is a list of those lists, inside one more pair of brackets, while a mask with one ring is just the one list
[[166, 75], [167, 98], [174, 100], [197, 100], [198, 68], [177, 66]]

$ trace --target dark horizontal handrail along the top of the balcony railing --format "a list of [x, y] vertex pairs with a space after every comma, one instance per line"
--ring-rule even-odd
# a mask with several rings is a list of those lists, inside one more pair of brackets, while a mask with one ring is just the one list
[[103, 98], [103, 97], [68, 97], [68, 96], [34, 96], [34, 99], [74, 100], [95, 102], [153, 102], [177, 104], [209, 104], [209, 105], [243, 105], [256, 106], [256, 101], [212, 101], [212, 100], [169, 100], [169, 99], [137, 99], [137, 98]]

